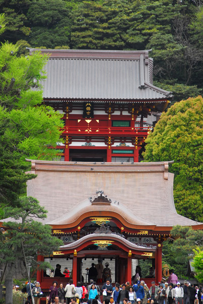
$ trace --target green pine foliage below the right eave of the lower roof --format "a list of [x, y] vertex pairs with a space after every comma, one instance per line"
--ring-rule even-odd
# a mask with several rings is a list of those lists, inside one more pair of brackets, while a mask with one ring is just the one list
[[171, 236], [174, 241], [169, 239], [163, 243], [164, 261], [172, 265], [175, 273], [182, 277], [186, 275], [187, 263], [193, 256], [193, 250], [203, 250], [203, 231], [177, 225], [171, 230]]

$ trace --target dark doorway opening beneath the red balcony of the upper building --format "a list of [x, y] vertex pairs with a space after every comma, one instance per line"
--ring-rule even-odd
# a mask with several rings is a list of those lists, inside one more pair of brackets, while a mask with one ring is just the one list
[[106, 162], [106, 149], [70, 149], [71, 162]]

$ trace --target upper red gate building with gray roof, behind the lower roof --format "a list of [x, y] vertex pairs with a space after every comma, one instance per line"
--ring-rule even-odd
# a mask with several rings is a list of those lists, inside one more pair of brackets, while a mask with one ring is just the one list
[[172, 97], [153, 85], [149, 51], [40, 52], [49, 55], [44, 103], [64, 114], [61, 160], [138, 162]]

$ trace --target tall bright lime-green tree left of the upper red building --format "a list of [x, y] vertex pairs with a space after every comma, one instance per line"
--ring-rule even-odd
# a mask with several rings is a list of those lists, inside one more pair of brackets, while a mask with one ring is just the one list
[[26, 158], [53, 160], [50, 149], [61, 141], [61, 115], [44, 106], [39, 82], [47, 57], [34, 53], [17, 57], [18, 47], [5, 43], [0, 48], [0, 202], [16, 206], [26, 193]]

